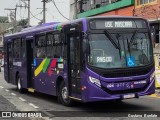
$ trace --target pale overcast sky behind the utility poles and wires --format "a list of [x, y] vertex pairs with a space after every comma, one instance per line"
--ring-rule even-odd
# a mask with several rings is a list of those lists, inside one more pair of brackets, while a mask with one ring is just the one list
[[[4, 10], [5, 8], [15, 8], [17, 5], [24, 5], [23, 2], [20, 2], [21, 0], [0, 0], [0, 16], [9, 16], [10, 11]], [[23, 0], [22, 0], [23, 1]], [[30, 0], [31, 2], [31, 13], [33, 15], [36, 15], [38, 19], [43, 18], [43, 13], [41, 13], [42, 9], [42, 0]], [[63, 13], [64, 16], [69, 18], [69, 0], [55, 0], [57, 7]], [[63, 22], [67, 21], [65, 18], [63, 18], [58, 11], [56, 10], [54, 4], [52, 2], [46, 3], [46, 22]], [[25, 8], [17, 8], [17, 20], [20, 20], [22, 18], [27, 18], [27, 9]], [[41, 14], [39, 14], [41, 13]], [[38, 15], [37, 15], [38, 14]], [[31, 25], [37, 25], [38, 20], [33, 18], [31, 15]]]

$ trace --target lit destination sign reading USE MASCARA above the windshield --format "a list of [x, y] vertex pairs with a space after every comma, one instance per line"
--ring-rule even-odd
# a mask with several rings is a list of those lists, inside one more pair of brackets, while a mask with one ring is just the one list
[[91, 29], [112, 28], [146, 28], [144, 20], [93, 20], [90, 22]]

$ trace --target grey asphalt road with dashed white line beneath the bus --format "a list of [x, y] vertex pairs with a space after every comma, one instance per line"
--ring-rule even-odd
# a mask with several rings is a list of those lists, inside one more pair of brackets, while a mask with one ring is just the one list
[[[16, 86], [8, 84], [0, 72], [0, 111], [37, 111], [41, 112], [41, 119], [75, 120], [75, 119], [101, 119], [101, 120], [159, 120], [160, 97], [159, 94], [140, 97], [139, 99], [127, 99], [120, 103], [94, 102], [79, 103], [73, 107], [65, 107], [57, 102], [54, 96], [41, 93], [20, 94]], [[149, 111], [149, 112], [148, 112]], [[157, 112], [159, 111], [159, 112]], [[144, 114], [150, 118], [144, 118]], [[143, 115], [143, 118], [141, 118]], [[120, 118], [118, 118], [120, 117]], [[129, 117], [129, 118], [128, 118]], [[154, 118], [155, 117], [155, 118]], [[0, 118], [2, 119], [2, 118]], [[17, 118], [16, 118], [17, 119]], [[19, 118], [20, 119], [20, 118]], [[27, 119], [27, 118], [26, 118]], [[38, 118], [30, 118], [36, 119]]]

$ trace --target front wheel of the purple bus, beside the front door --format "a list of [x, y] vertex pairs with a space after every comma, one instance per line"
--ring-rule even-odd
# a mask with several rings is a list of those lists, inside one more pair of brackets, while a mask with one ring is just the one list
[[58, 101], [68, 107], [73, 105], [73, 101], [68, 96], [68, 89], [64, 81], [61, 82], [59, 87]]

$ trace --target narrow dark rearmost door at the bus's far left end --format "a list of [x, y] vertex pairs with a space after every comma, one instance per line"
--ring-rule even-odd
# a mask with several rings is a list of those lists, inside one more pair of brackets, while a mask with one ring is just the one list
[[8, 82], [10, 83], [13, 78], [13, 43], [12, 42], [8, 42], [7, 43], [7, 50], [8, 50], [8, 54], [7, 54], [7, 58], [8, 58]]

